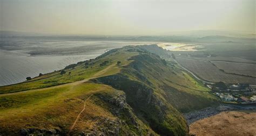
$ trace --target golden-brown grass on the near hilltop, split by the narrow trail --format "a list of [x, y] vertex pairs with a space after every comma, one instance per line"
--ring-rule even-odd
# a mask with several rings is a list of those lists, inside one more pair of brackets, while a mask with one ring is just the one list
[[[4, 108], [1, 103], [0, 132], [19, 132], [21, 128], [59, 128], [68, 132], [78, 113], [83, 109], [84, 100], [91, 94], [113, 93], [113, 88], [102, 84], [78, 84], [76, 87], [66, 85], [48, 90], [29, 91], [23, 94], [2, 96], [8, 99], [11, 106]], [[77, 126], [92, 126], [93, 117], [113, 118], [109, 111], [99, 107], [92, 100], [86, 102], [86, 109], [82, 113], [83, 121]], [[90, 119], [89, 119], [90, 118]], [[86, 121], [85, 121], [86, 120]], [[95, 121], [95, 120], [94, 120]], [[80, 124], [82, 123], [82, 124]], [[77, 127], [76, 126], [76, 127]]]

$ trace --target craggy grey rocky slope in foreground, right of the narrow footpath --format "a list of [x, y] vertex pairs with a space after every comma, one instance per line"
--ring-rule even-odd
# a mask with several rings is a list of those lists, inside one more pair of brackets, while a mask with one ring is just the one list
[[117, 91], [114, 96], [95, 94], [94, 97], [95, 103], [102, 103], [116, 118], [95, 117], [92, 121], [96, 124], [91, 129], [75, 130], [72, 135], [158, 135], [134, 114], [123, 91]]

